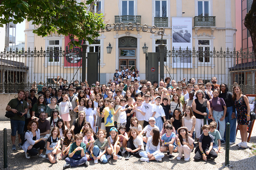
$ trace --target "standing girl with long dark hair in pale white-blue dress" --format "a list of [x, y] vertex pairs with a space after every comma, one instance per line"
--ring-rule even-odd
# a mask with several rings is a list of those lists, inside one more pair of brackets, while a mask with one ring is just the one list
[[93, 131], [96, 132], [96, 108], [94, 108], [93, 100], [88, 99], [87, 100], [87, 106], [84, 108], [86, 120], [90, 122], [91, 125], [93, 125]]

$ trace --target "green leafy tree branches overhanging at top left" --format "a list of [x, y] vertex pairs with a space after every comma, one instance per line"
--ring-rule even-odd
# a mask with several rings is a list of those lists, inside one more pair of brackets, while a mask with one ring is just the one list
[[98, 30], [104, 28], [104, 16], [87, 8], [94, 5], [94, 0], [84, 1], [85, 4], [76, 0], [0, 0], [0, 27], [27, 19], [36, 26], [33, 33], [38, 36], [56, 31], [73, 40], [70, 48], [80, 46], [81, 40], [91, 44], [99, 36]]

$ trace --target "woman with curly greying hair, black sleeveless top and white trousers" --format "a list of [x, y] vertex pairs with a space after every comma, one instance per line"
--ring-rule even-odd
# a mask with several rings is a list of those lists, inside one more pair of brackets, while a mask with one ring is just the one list
[[[207, 108], [209, 113], [211, 112], [210, 103], [207, 99], [204, 99], [204, 92], [198, 90], [195, 94], [196, 99], [192, 103], [193, 113], [195, 115], [195, 135], [198, 139], [201, 135], [201, 125], [204, 126], [204, 116], [207, 116]], [[211, 119], [213, 120], [213, 116], [211, 115]], [[208, 125], [208, 120], [207, 120]]]

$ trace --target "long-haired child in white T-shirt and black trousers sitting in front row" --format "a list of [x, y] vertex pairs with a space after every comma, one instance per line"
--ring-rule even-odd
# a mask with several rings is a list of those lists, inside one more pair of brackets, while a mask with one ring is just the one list
[[144, 150], [143, 139], [139, 136], [139, 132], [136, 129], [130, 129], [128, 134], [129, 140], [125, 150], [128, 152], [125, 160], [131, 158], [131, 155], [140, 157], [140, 152]]

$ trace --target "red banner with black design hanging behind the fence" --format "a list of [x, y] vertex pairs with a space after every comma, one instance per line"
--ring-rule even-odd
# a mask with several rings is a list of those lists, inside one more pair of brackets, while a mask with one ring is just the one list
[[[65, 51], [67, 51], [67, 47], [69, 47], [68, 43], [70, 42], [70, 38], [68, 36], [65, 37]], [[69, 49], [69, 48], [68, 48]], [[75, 46], [72, 52], [65, 53], [64, 56], [64, 67], [80, 67], [82, 64], [82, 53], [81, 48]]]

